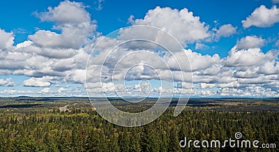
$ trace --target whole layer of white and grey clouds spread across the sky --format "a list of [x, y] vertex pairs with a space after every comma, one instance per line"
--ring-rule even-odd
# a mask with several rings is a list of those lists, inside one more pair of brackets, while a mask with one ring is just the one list
[[[194, 89], [193, 96], [278, 96], [279, 92], [279, 61], [278, 50], [263, 51], [262, 47], [267, 42], [261, 36], [245, 36], [240, 38], [234, 47], [225, 57], [218, 54], [208, 55], [188, 49], [187, 45], [195, 44], [196, 50], [210, 50], [211, 47], [204, 42], [212, 42], [221, 37], [229, 37], [236, 33], [236, 26], [223, 24], [218, 28], [210, 28], [202, 22], [198, 16], [190, 12], [187, 8], [181, 10], [172, 8], [156, 7], [149, 10], [143, 18], [129, 18], [130, 24], [156, 26], [163, 31], [172, 34], [180, 43], [183, 50], [174, 54], [167, 53], [163, 47], [158, 47], [153, 43], [127, 43], [121, 45], [119, 49], [112, 52], [111, 60], [105, 63], [103, 70], [105, 74], [114, 73], [114, 79], [120, 81], [126, 77], [137, 82], [141, 79], [151, 80], [149, 83], [131, 83], [127, 85], [113, 83], [113, 77], [103, 77], [103, 90], [97, 82], [98, 70], [101, 69], [102, 59], [107, 57], [108, 52], [120, 40], [129, 40], [134, 37], [148, 37], [151, 40], [159, 40], [164, 45], [173, 46], [169, 38], [162, 37], [162, 32], [149, 32], [135, 30], [133, 28], [121, 29], [117, 38], [105, 38], [97, 31], [97, 23], [91, 20], [91, 15], [86, 11], [82, 3], [63, 1], [59, 6], [48, 8], [46, 12], [35, 13], [42, 22], [53, 22], [52, 31], [40, 29], [29, 35], [29, 40], [14, 45], [13, 32], [0, 29], [0, 75], [24, 75], [28, 77], [22, 81], [22, 86], [40, 87], [38, 93], [43, 95], [85, 95], [84, 80], [86, 73], [86, 62], [93, 50], [93, 47], [101, 39], [104, 43], [98, 45], [96, 52], [93, 52], [94, 65], [91, 65], [91, 78], [96, 78], [96, 82], [88, 85], [96, 96], [102, 91], [115, 94], [114, 88], [118, 91], [128, 92], [130, 96], [141, 93], [151, 93], [158, 95], [167, 93], [188, 93]], [[243, 27], [250, 26], [267, 27], [279, 22], [279, 11], [277, 6], [268, 9], [265, 6], [256, 8], [254, 12], [243, 20]], [[59, 32], [57, 32], [59, 31]], [[147, 44], [147, 45], [146, 45]], [[143, 47], [144, 46], [144, 47]], [[176, 47], [172, 47], [175, 49]], [[145, 52], [145, 53], [142, 53]], [[152, 54], [151, 54], [151, 53]], [[177, 70], [174, 56], [188, 56], [191, 68]], [[114, 60], [120, 60], [115, 65]], [[162, 58], [161, 61], [158, 57]], [[158, 58], [158, 60], [156, 60]], [[164, 62], [165, 61], [165, 62]], [[152, 68], [144, 64], [149, 63]], [[163, 66], [167, 63], [168, 66]], [[130, 65], [137, 65], [130, 68]], [[118, 70], [114, 71], [114, 67]], [[130, 70], [126, 72], [126, 69]], [[171, 71], [169, 71], [171, 69]], [[193, 70], [193, 75], [191, 74]], [[180, 77], [183, 73], [185, 77]], [[162, 76], [162, 77], [159, 77]], [[190, 79], [192, 76], [193, 85]], [[181, 79], [185, 78], [185, 81]], [[156, 85], [156, 80], [163, 79], [169, 81], [174, 79], [174, 89], [160, 87]], [[80, 84], [81, 88], [60, 87], [59, 84]], [[152, 83], [151, 83], [152, 84]], [[13, 79], [0, 79], [0, 86], [16, 86]], [[54, 91], [52, 86], [57, 85]], [[58, 89], [59, 88], [59, 89]], [[184, 89], [184, 90], [183, 90]], [[0, 91], [0, 95], [6, 94], [36, 94], [33, 91], [16, 91], [5, 89]]]

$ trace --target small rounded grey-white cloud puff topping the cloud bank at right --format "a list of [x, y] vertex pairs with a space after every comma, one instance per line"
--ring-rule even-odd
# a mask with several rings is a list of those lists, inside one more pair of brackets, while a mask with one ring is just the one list
[[264, 46], [265, 40], [257, 36], [246, 36], [237, 41], [237, 49], [249, 49]]

